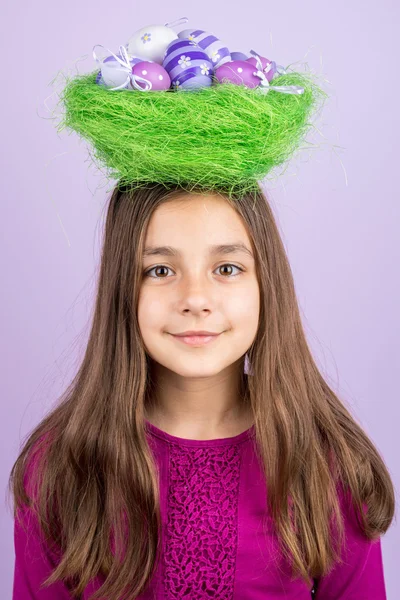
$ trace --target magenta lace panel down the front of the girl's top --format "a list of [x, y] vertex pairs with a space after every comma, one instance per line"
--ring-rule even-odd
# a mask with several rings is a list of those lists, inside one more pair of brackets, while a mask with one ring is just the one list
[[170, 444], [165, 597], [231, 600], [236, 567], [238, 446]]

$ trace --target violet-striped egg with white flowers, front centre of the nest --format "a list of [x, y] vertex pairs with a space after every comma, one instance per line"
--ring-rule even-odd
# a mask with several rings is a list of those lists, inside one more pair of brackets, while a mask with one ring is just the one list
[[208, 55], [195, 42], [172, 41], [166, 51], [163, 67], [175, 89], [197, 89], [212, 85], [213, 65]]

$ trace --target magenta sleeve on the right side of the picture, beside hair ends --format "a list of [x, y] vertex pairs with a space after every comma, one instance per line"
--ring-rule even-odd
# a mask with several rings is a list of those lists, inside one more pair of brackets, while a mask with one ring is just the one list
[[369, 540], [362, 532], [354, 508], [344, 504], [343, 563], [317, 579], [315, 600], [386, 600], [381, 538]]

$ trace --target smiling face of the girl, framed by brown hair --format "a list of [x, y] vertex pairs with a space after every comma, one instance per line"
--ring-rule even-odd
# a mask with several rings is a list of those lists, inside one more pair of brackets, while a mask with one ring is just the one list
[[[255, 260], [245, 251], [212, 251], [213, 245], [252, 247], [241, 217], [214, 195], [170, 200], [153, 213], [146, 232], [138, 305], [147, 353], [182, 377], [220, 373], [244, 356], [258, 326]], [[169, 246], [176, 255], [146, 255]], [[146, 275], [147, 273], [147, 275]], [[206, 330], [220, 335], [189, 346], [172, 334]]]

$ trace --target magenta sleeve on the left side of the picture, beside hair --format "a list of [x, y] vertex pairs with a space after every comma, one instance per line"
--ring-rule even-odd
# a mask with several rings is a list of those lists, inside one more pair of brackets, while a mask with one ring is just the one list
[[[30, 466], [24, 478], [28, 490], [33, 481]], [[35, 513], [25, 505], [17, 509], [14, 519], [14, 549], [12, 600], [72, 600], [70, 590], [62, 582], [40, 589], [57, 566], [58, 557], [48, 548]]]

